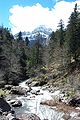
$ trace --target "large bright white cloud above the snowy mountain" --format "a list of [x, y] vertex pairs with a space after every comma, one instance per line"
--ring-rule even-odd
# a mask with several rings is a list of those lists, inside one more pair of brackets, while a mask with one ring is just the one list
[[[76, 1], [80, 3], [78, 0]], [[63, 19], [64, 24], [68, 22], [68, 18], [73, 11], [75, 2], [60, 1], [50, 10], [44, 8], [37, 3], [33, 6], [14, 5], [10, 9], [10, 25], [13, 34], [21, 31], [32, 31], [39, 25], [46, 25], [53, 30], [57, 29], [60, 19]]]

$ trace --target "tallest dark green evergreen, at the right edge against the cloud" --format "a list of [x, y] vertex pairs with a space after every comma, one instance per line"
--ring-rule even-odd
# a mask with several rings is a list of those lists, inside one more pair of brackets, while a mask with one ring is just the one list
[[69, 46], [69, 54], [71, 57], [77, 61], [80, 55], [80, 18], [79, 12], [77, 11], [77, 4], [75, 4], [74, 12], [72, 12], [69, 20], [69, 24], [67, 26], [67, 38], [68, 38], [68, 46]]

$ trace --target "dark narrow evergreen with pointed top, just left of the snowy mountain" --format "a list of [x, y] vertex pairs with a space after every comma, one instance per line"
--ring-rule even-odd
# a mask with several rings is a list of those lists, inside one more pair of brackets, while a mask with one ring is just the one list
[[[28, 44], [28, 43], [27, 43]], [[17, 36], [17, 58], [19, 64], [19, 77], [24, 80], [27, 77], [27, 53], [26, 53], [26, 41], [22, 38], [22, 32], [20, 31]]]

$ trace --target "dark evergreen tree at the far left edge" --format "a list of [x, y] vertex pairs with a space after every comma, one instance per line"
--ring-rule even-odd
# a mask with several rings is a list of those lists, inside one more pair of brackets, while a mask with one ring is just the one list
[[4, 73], [3, 78], [8, 83], [11, 80], [13, 69], [13, 35], [8, 28], [0, 27], [0, 70]]

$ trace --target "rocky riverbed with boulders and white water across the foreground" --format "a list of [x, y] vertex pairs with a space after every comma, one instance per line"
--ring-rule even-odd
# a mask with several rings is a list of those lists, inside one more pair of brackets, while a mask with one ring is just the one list
[[46, 85], [35, 87], [36, 83], [30, 81], [19, 86], [6, 86], [6, 89], [11, 89], [11, 95], [6, 97], [11, 108], [0, 111], [0, 120], [80, 120], [79, 98], [68, 101], [59, 89], [51, 90]]

